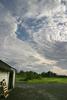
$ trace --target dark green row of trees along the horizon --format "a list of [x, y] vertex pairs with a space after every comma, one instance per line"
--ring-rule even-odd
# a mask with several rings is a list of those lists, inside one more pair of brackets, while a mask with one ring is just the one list
[[23, 81], [27, 81], [27, 80], [32, 80], [32, 79], [41, 79], [41, 78], [45, 78], [45, 77], [67, 77], [65, 75], [57, 75], [56, 73], [53, 73], [51, 71], [48, 72], [42, 72], [42, 73], [36, 73], [33, 71], [20, 71], [19, 73], [17, 73], [18, 77], [22, 77]]

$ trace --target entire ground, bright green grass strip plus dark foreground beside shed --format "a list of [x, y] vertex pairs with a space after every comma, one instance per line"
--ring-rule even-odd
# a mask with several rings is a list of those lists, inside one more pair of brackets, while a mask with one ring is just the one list
[[67, 78], [16, 81], [15, 89], [6, 100], [67, 100]]

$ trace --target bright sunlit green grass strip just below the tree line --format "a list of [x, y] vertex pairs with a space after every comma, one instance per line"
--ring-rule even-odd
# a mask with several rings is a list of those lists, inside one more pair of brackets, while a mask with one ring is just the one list
[[28, 81], [23, 81], [22, 77], [17, 77], [16, 82], [26, 82], [31, 84], [38, 84], [38, 83], [65, 83], [67, 84], [67, 78], [41, 78], [41, 79], [32, 79]]

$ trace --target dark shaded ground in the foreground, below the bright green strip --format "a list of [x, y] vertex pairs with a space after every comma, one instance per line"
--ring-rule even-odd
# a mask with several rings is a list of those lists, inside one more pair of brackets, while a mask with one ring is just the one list
[[6, 100], [67, 100], [67, 84], [18, 83]]

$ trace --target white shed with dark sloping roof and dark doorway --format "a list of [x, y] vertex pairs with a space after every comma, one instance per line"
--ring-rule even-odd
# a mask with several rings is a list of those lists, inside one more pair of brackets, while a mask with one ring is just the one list
[[9, 90], [15, 87], [15, 69], [0, 60], [0, 82], [3, 79]]

